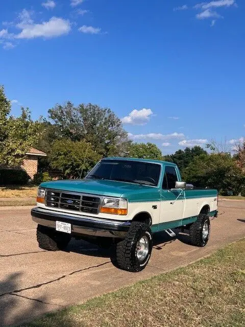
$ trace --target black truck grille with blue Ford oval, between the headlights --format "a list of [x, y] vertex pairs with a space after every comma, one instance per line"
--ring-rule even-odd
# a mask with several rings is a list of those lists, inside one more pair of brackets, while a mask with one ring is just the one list
[[88, 214], [99, 212], [101, 199], [87, 194], [46, 190], [45, 205]]

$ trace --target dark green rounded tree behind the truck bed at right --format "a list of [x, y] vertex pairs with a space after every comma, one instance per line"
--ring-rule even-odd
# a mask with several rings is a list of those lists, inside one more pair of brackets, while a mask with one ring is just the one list
[[244, 174], [229, 153], [201, 154], [190, 162], [183, 172], [183, 179], [194, 186], [214, 188], [227, 194], [238, 194], [244, 183]]

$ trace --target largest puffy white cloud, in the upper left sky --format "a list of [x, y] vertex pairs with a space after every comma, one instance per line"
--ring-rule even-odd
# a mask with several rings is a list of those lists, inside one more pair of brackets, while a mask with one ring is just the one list
[[43, 21], [42, 24], [18, 24], [22, 31], [15, 35], [17, 39], [32, 39], [35, 37], [55, 37], [63, 34], [68, 34], [71, 30], [70, 21], [52, 17], [48, 21]]

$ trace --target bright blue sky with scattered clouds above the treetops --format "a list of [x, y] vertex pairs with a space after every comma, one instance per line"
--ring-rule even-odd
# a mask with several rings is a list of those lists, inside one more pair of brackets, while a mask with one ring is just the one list
[[71, 100], [110, 107], [163, 154], [245, 134], [243, 0], [9, 0], [0, 84], [34, 119]]

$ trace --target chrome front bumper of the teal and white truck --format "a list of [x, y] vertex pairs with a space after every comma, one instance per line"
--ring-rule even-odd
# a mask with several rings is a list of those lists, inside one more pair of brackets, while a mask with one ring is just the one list
[[56, 221], [71, 224], [71, 235], [102, 236], [112, 238], [125, 238], [130, 221], [118, 221], [87, 217], [81, 215], [66, 215], [49, 209], [35, 207], [31, 211], [32, 220], [39, 225], [56, 228]]

